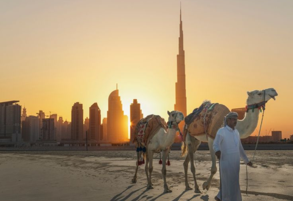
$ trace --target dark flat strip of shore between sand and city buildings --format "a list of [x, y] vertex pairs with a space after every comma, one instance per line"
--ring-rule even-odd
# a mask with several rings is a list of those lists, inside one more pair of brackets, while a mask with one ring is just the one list
[[[243, 144], [245, 150], [254, 150], [255, 144]], [[180, 144], [173, 144], [171, 150], [180, 150]], [[131, 151], [134, 146], [88, 147], [88, 151]], [[198, 150], [209, 150], [207, 144], [201, 144]], [[257, 150], [293, 150], [293, 144], [258, 144]], [[86, 147], [0, 147], [0, 151], [86, 151]]]

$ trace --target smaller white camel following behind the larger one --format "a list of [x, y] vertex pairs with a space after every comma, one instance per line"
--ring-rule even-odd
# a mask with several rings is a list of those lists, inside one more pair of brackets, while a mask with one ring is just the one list
[[[153, 156], [154, 153], [159, 153], [162, 151], [162, 175], [164, 180], [164, 193], [172, 192], [168, 188], [168, 185], [166, 183], [166, 159], [168, 157], [170, 147], [174, 143], [174, 140], [176, 138], [176, 132], [179, 130], [178, 124], [184, 120], [184, 115], [182, 112], [178, 111], [168, 111], [168, 130], [165, 131], [163, 127], [161, 127], [149, 140], [149, 143], [146, 147], [146, 164], [145, 164], [145, 172], [147, 175], [147, 189], [152, 189], [152, 182], [151, 182], [151, 173], [153, 171]], [[132, 183], [136, 183], [137, 178], [137, 168], [139, 166], [139, 156], [137, 157], [137, 163], [136, 163], [136, 171], [134, 174], [134, 177], [132, 179]], [[149, 173], [149, 174], [148, 174]]]

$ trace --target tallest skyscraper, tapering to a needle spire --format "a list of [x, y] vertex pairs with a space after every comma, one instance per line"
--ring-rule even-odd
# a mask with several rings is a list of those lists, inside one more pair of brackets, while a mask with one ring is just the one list
[[[186, 87], [185, 87], [185, 53], [183, 49], [183, 30], [181, 20], [180, 5], [180, 36], [179, 36], [179, 53], [177, 54], [177, 82], [175, 84], [176, 103], [174, 110], [178, 110], [186, 117]], [[180, 122], [179, 128], [182, 131], [184, 121]]]

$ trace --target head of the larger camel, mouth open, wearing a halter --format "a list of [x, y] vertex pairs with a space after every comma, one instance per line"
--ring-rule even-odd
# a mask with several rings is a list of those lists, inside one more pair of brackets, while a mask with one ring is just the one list
[[271, 98], [276, 100], [275, 96], [278, 96], [278, 93], [274, 88], [268, 88], [262, 91], [255, 90], [247, 92], [247, 94], [247, 105], [258, 104], [263, 101], [268, 101]]

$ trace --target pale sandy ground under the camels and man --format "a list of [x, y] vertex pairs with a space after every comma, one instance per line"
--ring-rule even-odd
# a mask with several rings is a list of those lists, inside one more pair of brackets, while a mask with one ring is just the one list
[[[246, 151], [252, 159], [253, 151]], [[139, 167], [137, 183], [131, 179], [135, 171], [135, 151], [1, 151], [0, 200], [214, 200], [219, 188], [219, 172], [210, 189], [202, 190], [207, 180], [211, 159], [209, 151], [196, 152], [197, 183], [202, 194], [185, 191], [184, 158], [180, 151], [171, 151], [171, 166], [167, 166], [167, 183], [172, 193], [163, 193], [159, 154], [155, 154], [152, 182], [146, 190], [144, 165]], [[240, 185], [243, 201], [293, 200], [293, 151], [257, 151], [256, 168], [246, 168], [241, 162]], [[217, 164], [218, 167], [218, 164]], [[192, 173], [188, 171], [192, 188]]]

